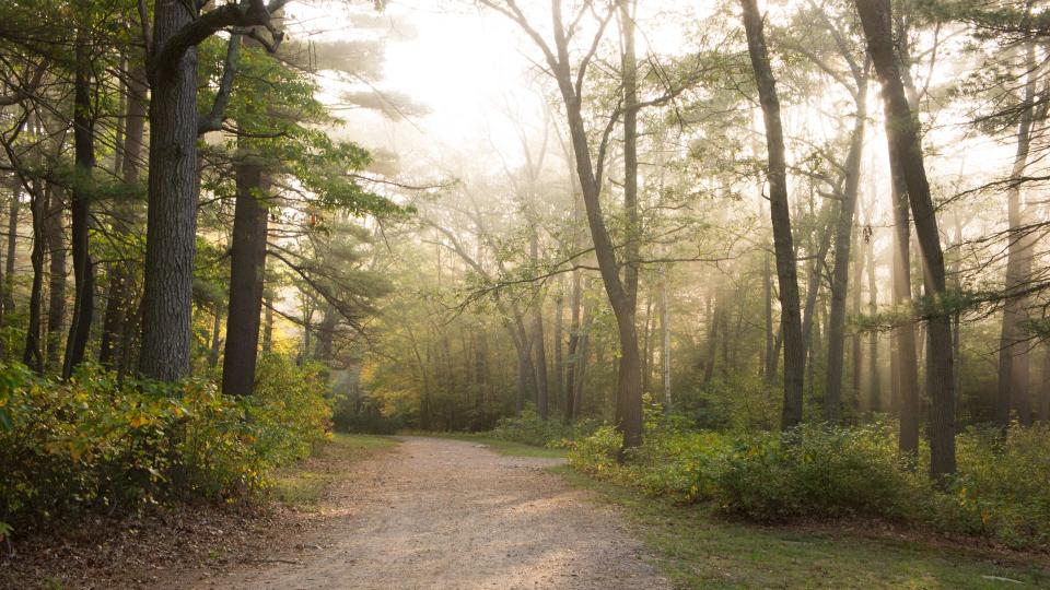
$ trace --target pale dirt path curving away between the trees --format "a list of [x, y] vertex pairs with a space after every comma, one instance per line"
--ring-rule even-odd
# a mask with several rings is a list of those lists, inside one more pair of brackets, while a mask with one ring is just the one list
[[406, 438], [357, 465], [298, 548], [197, 588], [668, 588], [557, 462]]

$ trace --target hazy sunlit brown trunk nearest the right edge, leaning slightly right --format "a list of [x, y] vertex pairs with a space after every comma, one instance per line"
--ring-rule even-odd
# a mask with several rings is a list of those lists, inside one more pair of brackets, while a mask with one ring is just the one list
[[1031, 239], [1025, 225], [1025, 211], [1020, 200], [1020, 181], [1028, 166], [1031, 145], [1032, 108], [1036, 98], [1036, 52], [1032, 44], [1026, 46], [1025, 68], [1027, 76], [1020, 118], [1017, 122], [1017, 151], [1014, 155], [1012, 177], [1015, 179], [1006, 190], [1007, 232], [1006, 280], [1003, 304], [1003, 322], [999, 345], [999, 382], [995, 402], [995, 421], [1003, 432], [1010, 426], [1011, 410], [1016, 411], [1020, 424], [1031, 424], [1031, 408], [1028, 401], [1028, 345], [1025, 342], [1025, 323], [1028, 320], [1028, 297], [1020, 293], [1027, 286], [1031, 270]]

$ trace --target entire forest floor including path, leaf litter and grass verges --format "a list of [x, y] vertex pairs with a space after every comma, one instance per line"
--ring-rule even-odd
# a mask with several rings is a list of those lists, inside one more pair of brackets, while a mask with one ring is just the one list
[[280, 474], [269, 508], [28, 540], [0, 559], [0, 588], [1050, 588], [1047, 555], [871, 523], [736, 522], [596, 482], [561, 455], [339, 435]]

